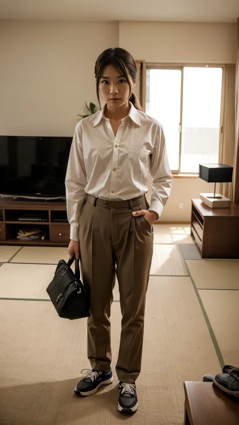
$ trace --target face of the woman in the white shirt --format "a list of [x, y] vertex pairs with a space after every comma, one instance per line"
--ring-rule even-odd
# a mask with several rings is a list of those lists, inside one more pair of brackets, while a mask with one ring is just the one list
[[130, 85], [126, 77], [118, 73], [112, 65], [104, 68], [99, 81], [99, 91], [110, 107], [121, 107], [130, 97]]

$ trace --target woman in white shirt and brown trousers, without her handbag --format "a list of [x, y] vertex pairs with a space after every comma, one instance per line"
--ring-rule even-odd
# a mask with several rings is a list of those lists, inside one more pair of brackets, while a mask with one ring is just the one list
[[[77, 395], [94, 394], [113, 381], [110, 368], [110, 306], [115, 266], [120, 289], [122, 332], [116, 365], [118, 410], [138, 408], [145, 296], [153, 253], [152, 224], [168, 198], [172, 176], [161, 125], [146, 115], [133, 89], [137, 66], [122, 48], [103, 51], [95, 64], [100, 112], [76, 126], [66, 175], [70, 258], [81, 258], [91, 290], [88, 358], [92, 371]], [[152, 175], [149, 207], [148, 174]]]

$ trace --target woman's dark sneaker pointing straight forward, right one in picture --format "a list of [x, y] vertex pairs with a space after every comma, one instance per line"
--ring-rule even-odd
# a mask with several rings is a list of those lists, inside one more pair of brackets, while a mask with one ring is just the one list
[[138, 398], [135, 384], [119, 384], [120, 396], [118, 397], [118, 411], [133, 413], [138, 409]]

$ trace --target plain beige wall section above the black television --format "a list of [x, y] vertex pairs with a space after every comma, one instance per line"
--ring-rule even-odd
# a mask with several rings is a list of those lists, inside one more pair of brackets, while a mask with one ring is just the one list
[[71, 136], [118, 23], [0, 21], [0, 134]]

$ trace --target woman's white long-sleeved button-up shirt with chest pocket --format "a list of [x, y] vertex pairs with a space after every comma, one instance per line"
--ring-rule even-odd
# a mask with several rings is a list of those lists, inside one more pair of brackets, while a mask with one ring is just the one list
[[172, 183], [162, 126], [132, 103], [116, 136], [104, 108], [82, 119], [75, 129], [66, 174], [71, 239], [79, 240], [78, 219], [86, 194], [113, 201], [138, 198], [148, 192], [149, 172], [149, 210], [160, 217]]

